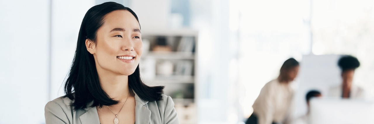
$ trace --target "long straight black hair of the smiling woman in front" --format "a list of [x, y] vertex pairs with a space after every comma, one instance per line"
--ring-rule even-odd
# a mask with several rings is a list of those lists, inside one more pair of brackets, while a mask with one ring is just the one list
[[[93, 106], [114, 105], [119, 101], [111, 99], [101, 88], [95, 66], [95, 59], [85, 45], [86, 39], [96, 42], [98, 29], [104, 24], [104, 16], [114, 10], [127, 10], [138, 20], [138, 16], [128, 7], [114, 2], [106, 2], [91, 7], [82, 20], [77, 48], [70, 72], [65, 82], [65, 96], [74, 102], [74, 110], [84, 109], [91, 102]], [[139, 20], [138, 20], [139, 22]], [[134, 90], [144, 101], [162, 100], [164, 86], [150, 87], [145, 85], [140, 77], [139, 65], [135, 72], [128, 77], [129, 89]]]

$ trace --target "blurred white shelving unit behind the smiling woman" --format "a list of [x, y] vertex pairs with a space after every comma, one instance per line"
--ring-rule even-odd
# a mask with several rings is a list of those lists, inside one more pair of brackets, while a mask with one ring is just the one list
[[165, 86], [181, 124], [197, 123], [197, 34], [190, 29], [142, 31], [142, 79], [150, 86]]

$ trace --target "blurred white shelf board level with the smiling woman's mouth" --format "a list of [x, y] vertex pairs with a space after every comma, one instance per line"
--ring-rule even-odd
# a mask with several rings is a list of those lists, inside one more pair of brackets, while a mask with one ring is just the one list
[[194, 60], [195, 59], [195, 55], [192, 52], [160, 52], [160, 51], [153, 51], [153, 52], [147, 53], [142, 58]]

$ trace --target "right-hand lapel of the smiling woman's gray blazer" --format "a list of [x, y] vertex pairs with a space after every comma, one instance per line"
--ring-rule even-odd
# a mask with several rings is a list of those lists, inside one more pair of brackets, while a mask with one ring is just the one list
[[151, 110], [146, 107], [148, 101], [143, 101], [139, 98], [137, 93], [135, 93], [135, 102], [135, 124], [149, 124], [151, 120]]

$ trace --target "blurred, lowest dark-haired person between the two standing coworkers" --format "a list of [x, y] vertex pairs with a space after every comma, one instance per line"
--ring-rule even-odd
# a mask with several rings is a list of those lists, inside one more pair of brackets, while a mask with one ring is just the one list
[[310, 101], [310, 99], [311, 98], [313, 98], [313, 97], [321, 97], [322, 96], [322, 94], [321, 94], [321, 92], [319, 92], [318, 90], [310, 90], [307, 94], [306, 94], [306, 96], [305, 96], [305, 98], [306, 98], [306, 104], [307, 104], [307, 112], [306, 112], [306, 114], [305, 115], [303, 115], [303, 116], [300, 116], [300, 117], [298, 117], [298, 118], [296, 118], [293, 122], [292, 122], [292, 124], [308, 124], [309, 123], [309, 101]]

